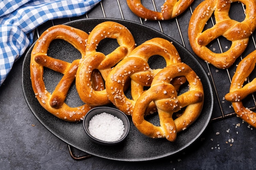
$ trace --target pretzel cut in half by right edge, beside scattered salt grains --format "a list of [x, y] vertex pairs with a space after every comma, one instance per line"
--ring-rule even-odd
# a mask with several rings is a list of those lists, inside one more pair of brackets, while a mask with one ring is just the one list
[[254, 70], [256, 63], [256, 50], [247, 55], [236, 68], [232, 78], [229, 93], [225, 99], [232, 102], [234, 111], [245, 122], [256, 128], [256, 113], [243, 106], [242, 100], [249, 94], [256, 92], [256, 78], [244, 85], [247, 77]]

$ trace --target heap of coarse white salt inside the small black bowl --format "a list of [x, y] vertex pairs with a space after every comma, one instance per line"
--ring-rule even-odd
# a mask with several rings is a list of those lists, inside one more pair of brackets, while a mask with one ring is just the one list
[[93, 137], [106, 142], [115, 142], [124, 134], [122, 120], [106, 112], [93, 116], [88, 129]]

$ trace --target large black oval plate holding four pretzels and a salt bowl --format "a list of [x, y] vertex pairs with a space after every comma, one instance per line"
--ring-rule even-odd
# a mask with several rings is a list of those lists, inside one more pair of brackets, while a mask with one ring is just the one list
[[[149, 161], [164, 158], [175, 153], [180, 152], [184, 148], [190, 146], [200, 135], [204, 132], [209, 124], [211, 114], [213, 111], [213, 91], [211, 83], [205, 72], [204, 68], [195, 59], [195, 57], [186, 50], [177, 41], [171, 39], [167, 35], [160, 33], [148, 26], [130, 22], [126, 20], [110, 19], [110, 18], [93, 18], [76, 20], [68, 22], [66, 25], [79, 28], [86, 33], [92, 31], [92, 29], [99, 23], [105, 21], [114, 21], [126, 26], [135, 38], [135, 42], [138, 45], [142, 44], [148, 39], [154, 37], [162, 37], [173, 42], [179, 52], [181, 59], [184, 63], [189, 65], [196, 74], [201, 78], [204, 87], [204, 107], [200, 117], [185, 131], [178, 133], [176, 142], [169, 142], [166, 139], [151, 139], [139, 133], [135, 126], [130, 123], [130, 132], [126, 140], [117, 146], [101, 146], [90, 141], [86, 136], [83, 129], [83, 123], [71, 123], [60, 120], [47, 112], [40, 106], [39, 102], [35, 98], [33, 89], [31, 87], [30, 80], [30, 54], [34, 44], [29, 48], [22, 66], [22, 89], [29, 108], [34, 116], [40, 123], [45, 126], [51, 133], [56, 135], [59, 139], [63, 140], [67, 144], [89, 153], [94, 156], [103, 157], [118, 161]], [[109, 53], [117, 47], [115, 40], [105, 39], [99, 43], [98, 50], [104, 53]], [[72, 45], [63, 40], [54, 40], [49, 46], [47, 52], [48, 56], [52, 56], [58, 59], [72, 62], [74, 59], [79, 59], [81, 54]], [[163, 68], [163, 60], [159, 60], [162, 57], [152, 57], [149, 61], [150, 66], [155, 68]], [[56, 84], [61, 79], [62, 75], [47, 68], [44, 69], [45, 85], [49, 92], [53, 91]], [[66, 102], [68, 105], [76, 107], [82, 105], [83, 102], [77, 97], [76, 87], [73, 84], [70, 92], [67, 96]], [[152, 116], [150, 119], [158, 119], [158, 116]], [[130, 118], [130, 122], [132, 122]]]

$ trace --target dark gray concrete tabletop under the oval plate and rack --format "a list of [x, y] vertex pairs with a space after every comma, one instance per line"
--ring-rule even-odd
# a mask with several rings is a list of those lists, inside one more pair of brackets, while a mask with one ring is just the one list
[[[201, 1], [194, 2], [191, 6], [192, 10]], [[125, 0], [119, 0], [119, 2], [125, 20], [140, 22], [139, 18], [129, 11]], [[162, 4], [160, 0], [155, 2]], [[111, 1], [110, 3], [110, 0], [103, 0], [102, 6], [106, 17], [122, 19], [117, 1]], [[240, 9], [240, 6], [235, 8]], [[191, 12], [187, 10], [184, 15], [177, 18], [177, 22], [180, 24], [184, 46], [191, 51], [186, 32], [190, 16]], [[87, 16], [79, 18], [85, 17], [104, 17], [101, 4], [97, 5]], [[72, 20], [79, 18], [73, 18]], [[54, 21], [54, 23], [61, 24], [67, 21]], [[158, 22], [142, 22], [159, 30]], [[40, 27], [39, 32], [47, 24]], [[177, 31], [177, 24], [175, 24], [175, 19], [161, 22], [162, 30], [166, 35], [182, 44], [181, 36]], [[253, 36], [255, 37], [255, 34]], [[252, 40], [250, 40], [250, 43], [252, 43]], [[225, 47], [225, 44], [223, 46]], [[245, 53], [249, 53], [252, 50], [255, 50], [255, 46], [251, 44]], [[93, 156], [81, 161], [74, 160], [70, 156], [68, 145], [40, 124], [27, 106], [21, 83], [23, 59], [24, 57], [14, 64], [6, 81], [0, 87], [0, 169], [213, 170], [255, 168], [256, 130], [248, 126], [247, 123], [243, 123], [236, 116], [211, 121], [206, 131], [196, 142], [180, 153], [164, 159], [148, 162], [120, 162]], [[204, 64], [203, 66], [207, 70], [204, 61], [200, 62]], [[222, 102], [222, 97], [229, 88], [230, 82], [225, 79], [227, 78], [226, 70], [218, 70], [216, 72], [216, 68], [209, 66], [207, 72], [209, 71], [214, 74], [213, 82], [216, 83], [217, 87], [213, 118], [218, 118], [222, 116], [222, 112], [225, 115], [232, 112], [232, 108], [229, 108], [230, 103], [227, 101]], [[218, 98], [220, 99], [220, 105]], [[74, 153], [77, 156], [86, 154], [76, 149]]]

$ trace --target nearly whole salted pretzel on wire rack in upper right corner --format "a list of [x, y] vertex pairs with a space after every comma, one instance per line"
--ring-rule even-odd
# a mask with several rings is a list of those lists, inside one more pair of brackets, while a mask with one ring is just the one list
[[[247, 47], [249, 36], [256, 28], [256, 1], [239, 0], [246, 5], [245, 20], [231, 20], [229, 9], [238, 0], [204, 0], [194, 10], [188, 28], [191, 47], [195, 54], [216, 68], [229, 68]], [[216, 24], [203, 31], [204, 25], [214, 12]], [[202, 32], [203, 31], [203, 32]], [[207, 45], [223, 36], [231, 41], [231, 47], [223, 53], [211, 51]]]

